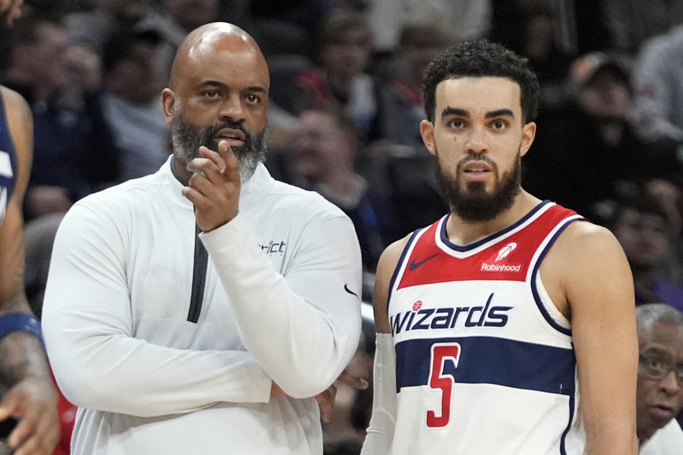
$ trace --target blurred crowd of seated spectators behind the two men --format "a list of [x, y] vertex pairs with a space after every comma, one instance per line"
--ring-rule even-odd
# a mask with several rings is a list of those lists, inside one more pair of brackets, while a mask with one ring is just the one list
[[[0, 83], [33, 110], [26, 289], [41, 313], [51, 245], [76, 200], [157, 171], [171, 153], [160, 93], [186, 33], [228, 21], [271, 72], [270, 173], [354, 221], [371, 299], [389, 243], [448, 211], [422, 144], [426, 65], [489, 38], [541, 83], [522, 186], [608, 226], [638, 304], [683, 311], [683, 2], [676, 0], [26, 0]], [[374, 327], [351, 370], [370, 378]], [[370, 391], [339, 388], [326, 454], [356, 454]]]

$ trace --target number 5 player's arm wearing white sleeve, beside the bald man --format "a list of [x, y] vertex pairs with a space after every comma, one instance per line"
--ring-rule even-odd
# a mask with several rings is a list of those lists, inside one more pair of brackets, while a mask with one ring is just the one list
[[386, 455], [396, 426], [396, 351], [387, 310], [391, 277], [410, 236], [393, 242], [377, 264], [373, 309], [377, 331], [373, 368], [372, 417], [361, 455]]

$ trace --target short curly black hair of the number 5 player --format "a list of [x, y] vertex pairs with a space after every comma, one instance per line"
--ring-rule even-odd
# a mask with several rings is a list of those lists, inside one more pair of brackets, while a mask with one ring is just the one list
[[456, 77], [507, 77], [521, 89], [521, 114], [524, 123], [536, 118], [539, 107], [539, 81], [528, 65], [529, 60], [508, 48], [487, 40], [464, 41], [435, 58], [425, 70], [422, 96], [425, 112], [434, 122], [436, 86]]

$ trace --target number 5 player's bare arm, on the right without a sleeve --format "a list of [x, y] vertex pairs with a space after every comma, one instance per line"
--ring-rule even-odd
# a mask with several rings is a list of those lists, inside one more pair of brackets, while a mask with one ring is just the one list
[[546, 261], [569, 305], [588, 454], [637, 454], [635, 297], [623, 250], [605, 228], [572, 223]]

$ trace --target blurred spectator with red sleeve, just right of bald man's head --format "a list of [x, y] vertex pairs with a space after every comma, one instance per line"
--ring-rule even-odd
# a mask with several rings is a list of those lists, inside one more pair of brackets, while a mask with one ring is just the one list
[[316, 102], [337, 102], [364, 139], [377, 139], [377, 87], [364, 73], [371, 55], [371, 34], [363, 14], [338, 10], [319, 25], [318, 58], [322, 68], [309, 70], [298, 78], [299, 105], [303, 112]]

